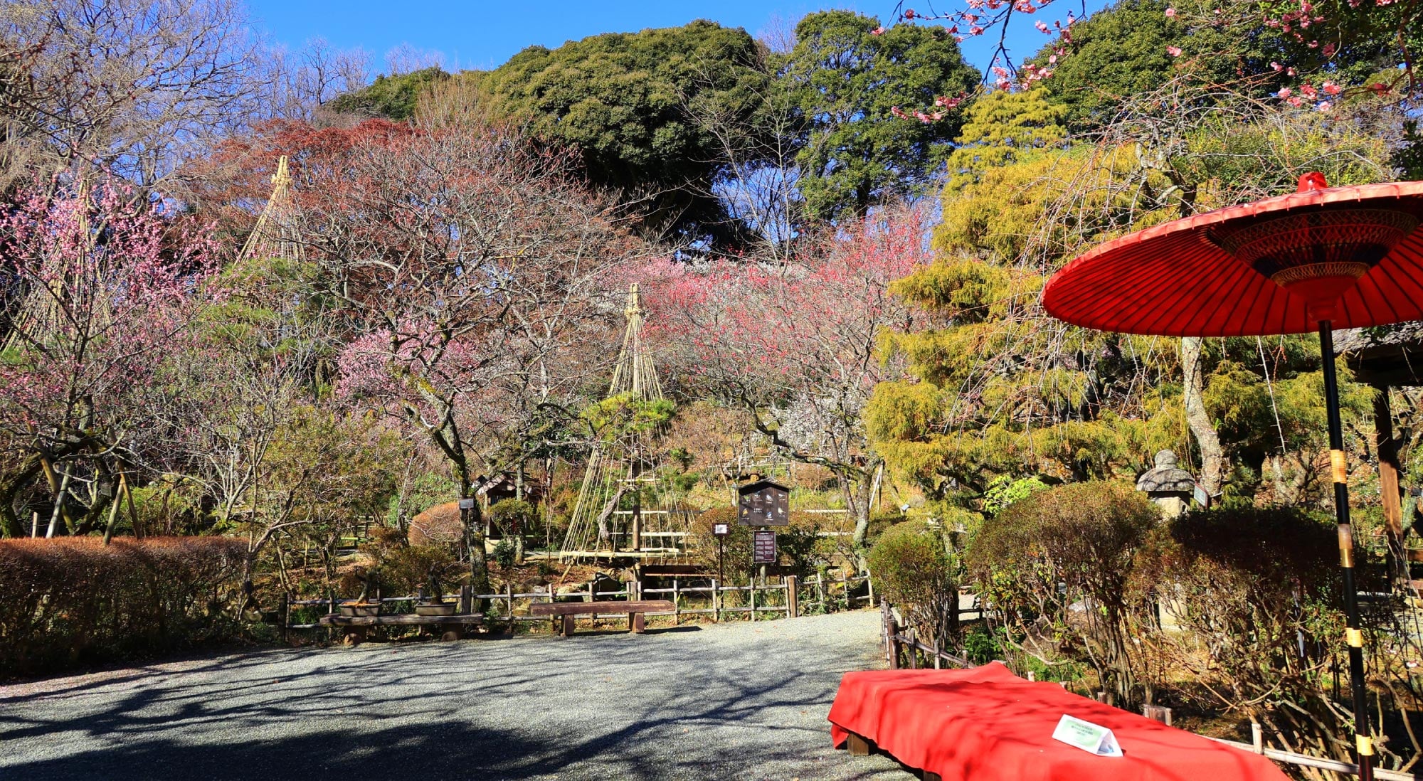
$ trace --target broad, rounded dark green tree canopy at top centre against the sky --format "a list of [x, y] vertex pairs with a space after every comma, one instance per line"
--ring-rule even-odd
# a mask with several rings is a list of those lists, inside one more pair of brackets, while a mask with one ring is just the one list
[[619, 189], [646, 232], [734, 240], [712, 188], [727, 149], [693, 112], [731, 122], [763, 105], [761, 47], [713, 21], [534, 46], [478, 74], [495, 111], [576, 145], [589, 179]]

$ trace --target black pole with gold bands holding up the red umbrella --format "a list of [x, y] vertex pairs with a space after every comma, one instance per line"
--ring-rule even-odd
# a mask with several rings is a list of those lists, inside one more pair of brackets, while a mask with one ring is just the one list
[[1353, 578], [1353, 526], [1349, 525], [1349, 469], [1343, 457], [1339, 421], [1339, 380], [1335, 376], [1333, 326], [1319, 322], [1319, 356], [1325, 370], [1325, 405], [1329, 410], [1329, 465], [1335, 485], [1335, 519], [1339, 524], [1339, 568], [1343, 572], [1345, 642], [1349, 646], [1349, 689], [1353, 693], [1353, 737], [1359, 778], [1373, 778], [1373, 738], [1369, 734], [1368, 686], [1363, 677], [1363, 632], [1359, 629], [1359, 590]]

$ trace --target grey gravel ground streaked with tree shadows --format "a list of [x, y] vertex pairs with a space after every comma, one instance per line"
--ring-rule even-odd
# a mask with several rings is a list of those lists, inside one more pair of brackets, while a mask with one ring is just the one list
[[0, 780], [911, 778], [830, 747], [878, 612], [263, 650], [0, 687]]

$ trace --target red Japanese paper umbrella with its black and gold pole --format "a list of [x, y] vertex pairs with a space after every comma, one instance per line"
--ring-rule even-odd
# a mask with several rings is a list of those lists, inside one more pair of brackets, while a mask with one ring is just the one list
[[1043, 289], [1076, 326], [1160, 336], [1319, 331], [1359, 771], [1373, 775], [1333, 329], [1423, 320], [1423, 182], [1329, 188], [1157, 225], [1097, 246]]

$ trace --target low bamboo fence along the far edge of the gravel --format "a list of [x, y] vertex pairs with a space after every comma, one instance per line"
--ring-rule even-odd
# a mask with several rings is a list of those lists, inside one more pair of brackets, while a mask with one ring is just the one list
[[[490, 605], [485, 610], [485, 616], [488, 619], [508, 622], [511, 627], [517, 622], [548, 622], [548, 616], [528, 615], [528, 606], [558, 600], [636, 602], [640, 599], [667, 599], [675, 606], [672, 610], [647, 613], [647, 616], [670, 616], [673, 626], [680, 625], [683, 616], [709, 616], [713, 622], [721, 622], [741, 616], [750, 620], [757, 620], [760, 616], [770, 613], [773, 617], [793, 619], [804, 613], [805, 609], [818, 607], [818, 612], [831, 613], [840, 609], [841, 605], [844, 609], [854, 609], [857, 605], [859, 607], [868, 607], [875, 603], [874, 585], [869, 583], [869, 579], [862, 575], [850, 575], [845, 569], [841, 569], [838, 576], [817, 573], [811, 578], [801, 579], [790, 575], [783, 578], [780, 583], [727, 586], [719, 583], [714, 578], [707, 586], [684, 586], [682, 583], [682, 578], [672, 578], [670, 588], [645, 589], [638, 580], [632, 580], [625, 583], [620, 590], [596, 590], [596, 582], [591, 580], [576, 592], [558, 592], [554, 585], [549, 583], [546, 590], [519, 593], [511, 586], [507, 586], [501, 593], [445, 595], [443, 599], [462, 600], [468, 596], [470, 599], [485, 600]], [[857, 596], [854, 592], [861, 583], [865, 585], [865, 593]], [[727, 599], [730, 595], [736, 596]], [[398, 607], [413, 606], [420, 599], [424, 597], [397, 596], [380, 599], [379, 602], [383, 606], [383, 610], [386, 606], [391, 606], [397, 607], [397, 610], [391, 612], [398, 613], [403, 612], [398, 610]], [[702, 606], [693, 605], [693, 600], [700, 600]], [[327, 613], [334, 613], [342, 602], [343, 600], [337, 599], [334, 592], [330, 592], [324, 599], [293, 599], [289, 595], [282, 595], [277, 609], [280, 613], [279, 620], [283, 627], [283, 636], [292, 629], [322, 627], [319, 623], [292, 623], [293, 609], [324, 607]], [[619, 622], [625, 619], [619, 616], [592, 616], [592, 620], [596, 626], [599, 622]]]

